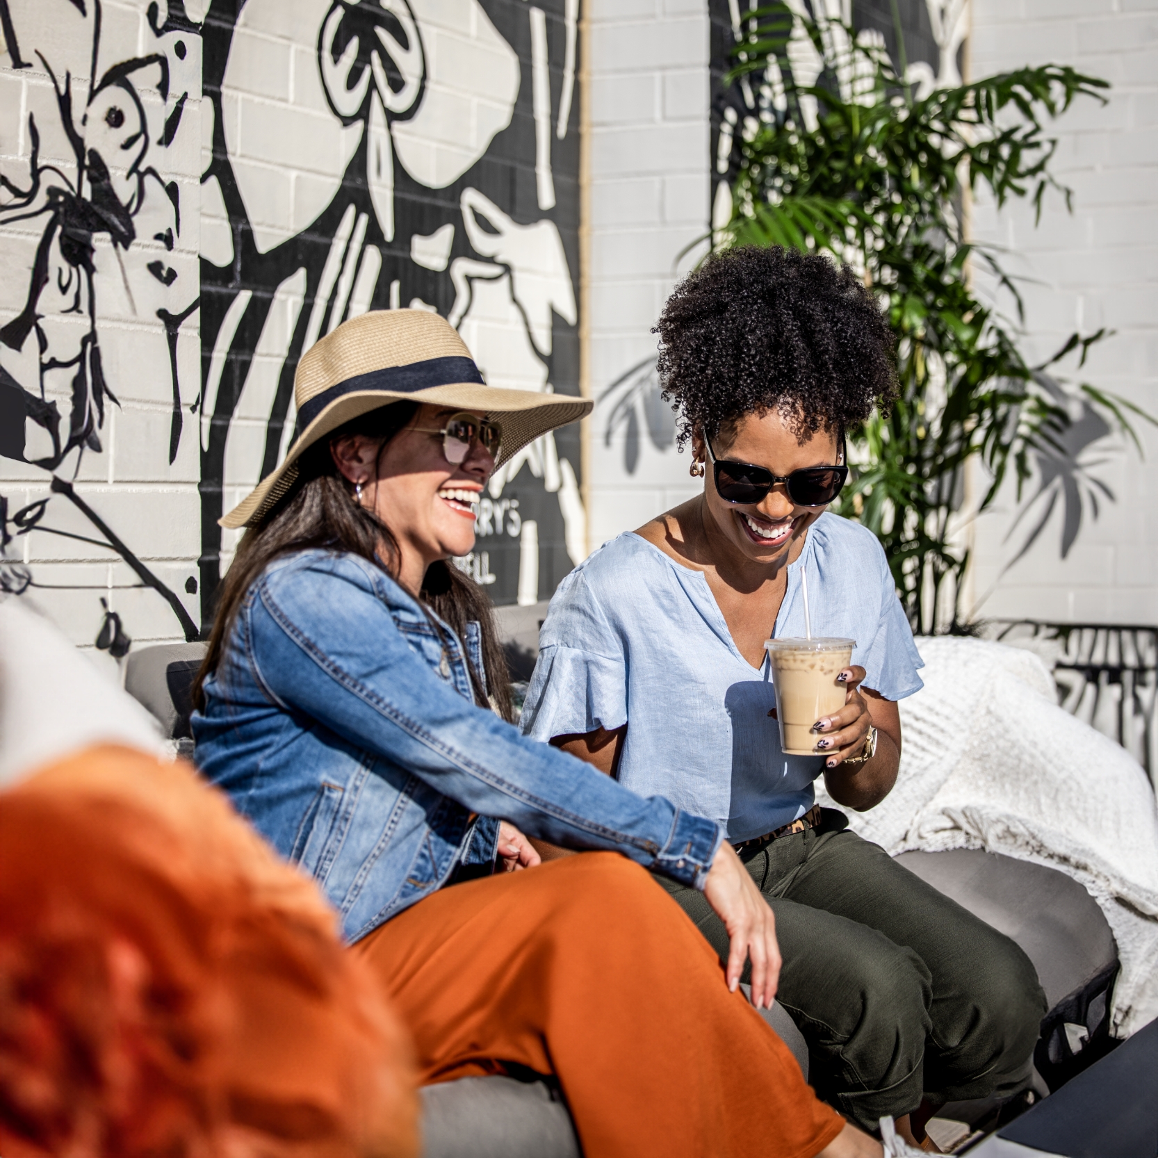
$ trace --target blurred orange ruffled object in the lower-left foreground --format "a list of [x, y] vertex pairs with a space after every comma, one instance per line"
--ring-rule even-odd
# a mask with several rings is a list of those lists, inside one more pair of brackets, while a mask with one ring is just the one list
[[0, 793], [3, 1158], [411, 1158], [413, 1050], [313, 884], [185, 764]]

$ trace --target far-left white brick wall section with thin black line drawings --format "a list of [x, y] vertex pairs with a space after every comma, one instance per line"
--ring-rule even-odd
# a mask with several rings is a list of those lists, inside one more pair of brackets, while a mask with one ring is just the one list
[[[181, 521], [153, 513], [192, 462], [198, 197], [181, 159], [199, 142], [198, 27], [181, 0], [0, 0], [0, 543], [46, 564], [0, 578], [65, 620], [85, 606], [109, 646], [124, 643], [103, 614], [115, 592], [148, 609], [141, 624], [193, 638], [179, 535], [139, 532]], [[112, 483], [117, 430], [145, 484], [131, 513], [88, 485]]]

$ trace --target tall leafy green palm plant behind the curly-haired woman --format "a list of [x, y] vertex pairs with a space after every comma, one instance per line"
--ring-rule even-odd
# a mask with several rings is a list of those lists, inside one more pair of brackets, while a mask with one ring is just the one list
[[[897, 339], [901, 396], [891, 415], [850, 432], [855, 474], [837, 510], [880, 537], [915, 631], [967, 631], [965, 520], [991, 506], [1007, 478], [1018, 503], [1035, 479], [1020, 554], [1061, 503], [1064, 557], [1083, 512], [1097, 515], [1099, 494], [1113, 498], [1091, 472], [1100, 464], [1091, 446], [1112, 431], [1137, 445], [1131, 418], [1155, 422], [1057, 375], [1071, 354], [1080, 368], [1105, 330], [1073, 334], [1029, 364], [1017, 286], [998, 254], [962, 229], [962, 205], [980, 185], [998, 206], [1032, 198], [1039, 217], [1049, 190], [1069, 205], [1050, 173], [1056, 141], [1045, 123], [1079, 97], [1105, 101], [1108, 86], [1046, 65], [936, 87], [928, 66], [923, 75], [907, 65], [895, 2], [896, 67], [882, 38], [814, 12], [777, 3], [736, 17], [724, 109], [734, 178], [731, 205], [719, 212], [717, 201], [713, 242], [828, 251], [877, 294]], [[1016, 321], [974, 294], [970, 262], [1012, 295]], [[988, 478], [967, 505], [970, 460]]]

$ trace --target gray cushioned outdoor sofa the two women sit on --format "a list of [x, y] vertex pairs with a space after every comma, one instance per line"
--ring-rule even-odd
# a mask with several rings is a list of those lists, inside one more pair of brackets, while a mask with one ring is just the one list
[[[533, 661], [537, 620], [519, 608], [511, 624], [522, 660]], [[178, 750], [192, 755], [190, 687], [205, 645], [168, 644], [130, 653], [125, 689], [160, 721]], [[1082, 1068], [1083, 1051], [1108, 1048], [1109, 994], [1117, 951], [1101, 910], [1076, 881], [1039, 865], [983, 851], [908, 852], [897, 858], [943, 893], [1012, 937], [1038, 969], [1050, 1013], [1035, 1055], [1026, 1104]], [[765, 1020], [796, 1055], [805, 1076], [804, 1039], [777, 1005]], [[463, 1078], [423, 1090], [426, 1158], [577, 1158], [578, 1138], [557, 1087], [512, 1077]], [[958, 1102], [941, 1116], [992, 1128], [1002, 1107]]]

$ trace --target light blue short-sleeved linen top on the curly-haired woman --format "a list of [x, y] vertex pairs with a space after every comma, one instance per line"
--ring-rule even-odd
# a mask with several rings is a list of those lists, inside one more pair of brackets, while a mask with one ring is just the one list
[[[921, 688], [921, 655], [875, 535], [822, 514], [789, 566], [775, 636], [805, 633], [802, 567], [813, 635], [857, 642], [864, 687], [886, 699]], [[550, 740], [626, 723], [620, 782], [719, 821], [735, 842], [815, 802], [823, 757], [784, 755], [775, 706], [767, 660], [756, 668], [740, 654], [703, 572], [628, 533], [555, 592], [521, 727]]]

